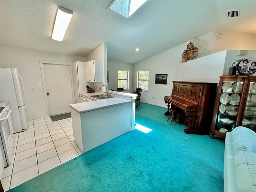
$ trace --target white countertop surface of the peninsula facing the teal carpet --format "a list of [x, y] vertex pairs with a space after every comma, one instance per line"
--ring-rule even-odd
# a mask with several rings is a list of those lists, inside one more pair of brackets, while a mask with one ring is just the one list
[[[91, 95], [99, 94], [99, 93], [90, 93]], [[88, 95], [89, 96], [89, 95]], [[93, 110], [98, 110], [102, 108], [107, 108], [111, 106], [121, 105], [125, 103], [130, 103], [130, 100], [121, 99], [121, 98], [108, 98], [108, 99], [101, 99], [97, 101], [90, 101], [90, 102], [83, 102], [83, 103], [76, 103], [76, 104], [70, 104], [71, 108], [76, 110], [78, 113], [84, 113], [89, 112]]]

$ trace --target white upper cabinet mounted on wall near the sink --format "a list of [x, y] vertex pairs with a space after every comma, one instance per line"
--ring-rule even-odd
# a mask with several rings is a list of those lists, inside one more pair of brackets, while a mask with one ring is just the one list
[[102, 61], [92, 60], [85, 64], [86, 81], [88, 82], [103, 82]]

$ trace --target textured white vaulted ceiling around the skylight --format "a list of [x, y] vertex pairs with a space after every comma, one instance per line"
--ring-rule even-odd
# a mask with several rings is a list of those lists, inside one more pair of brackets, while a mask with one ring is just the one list
[[[110, 2], [1, 0], [1, 44], [86, 57], [107, 42], [108, 60], [136, 63], [211, 31], [256, 34], [255, 0], [150, 0], [129, 19], [106, 9]], [[58, 6], [73, 11], [62, 42], [51, 39]]]

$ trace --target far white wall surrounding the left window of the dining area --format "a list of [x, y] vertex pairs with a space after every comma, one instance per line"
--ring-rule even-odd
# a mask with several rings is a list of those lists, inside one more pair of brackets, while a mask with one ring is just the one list
[[132, 92], [133, 89], [133, 64], [108, 61], [108, 71], [109, 71], [109, 82], [108, 82], [108, 90], [116, 90], [118, 87], [118, 70], [128, 70], [129, 71], [129, 90], [128, 92]]

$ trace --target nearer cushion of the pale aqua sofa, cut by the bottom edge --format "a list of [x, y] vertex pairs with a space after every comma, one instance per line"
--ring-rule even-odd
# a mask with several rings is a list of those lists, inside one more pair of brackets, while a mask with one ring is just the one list
[[256, 191], [256, 153], [242, 149], [234, 154], [234, 175], [237, 191]]

